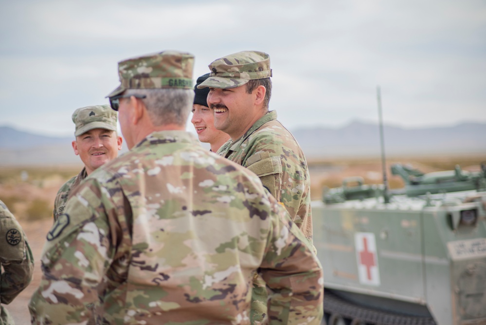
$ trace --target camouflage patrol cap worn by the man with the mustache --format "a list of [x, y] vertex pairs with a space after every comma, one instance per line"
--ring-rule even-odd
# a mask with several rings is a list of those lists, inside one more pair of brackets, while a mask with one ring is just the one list
[[241, 51], [221, 57], [209, 65], [211, 75], [198, 88], [236, 88], [250, 80], [271, 77], [270, 56], [264, 52]]

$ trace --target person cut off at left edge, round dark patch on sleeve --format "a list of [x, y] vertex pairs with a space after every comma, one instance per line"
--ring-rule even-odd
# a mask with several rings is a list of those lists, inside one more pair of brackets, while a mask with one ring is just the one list
[[[34, 258], [25, 233], [14, 215], [0, 201], [0, 301], [10, 304], [29, 285]], [[0, 325], [13, 325], [7, 310], [0, 306]]]

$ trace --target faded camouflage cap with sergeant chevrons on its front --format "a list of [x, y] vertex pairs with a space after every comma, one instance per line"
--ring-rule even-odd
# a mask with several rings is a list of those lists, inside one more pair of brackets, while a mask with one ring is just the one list
[[81, 107], [72, 113], [72, 121], [76, 125], [74, 136], [79, 136], [93, 129], [116, 131], [116, 111], [109, 105]]

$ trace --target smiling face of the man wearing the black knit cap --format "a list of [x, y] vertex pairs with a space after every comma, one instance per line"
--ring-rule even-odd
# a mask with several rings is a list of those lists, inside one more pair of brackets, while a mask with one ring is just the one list
[[199, 141], [214, 143], [222, 138], [228, 139], [228, 134], [215, 128], [214, 120], [213, 110], [209, 107], [199, 104], [194, 104], [192, 106], [191, 123], [196, 129]]

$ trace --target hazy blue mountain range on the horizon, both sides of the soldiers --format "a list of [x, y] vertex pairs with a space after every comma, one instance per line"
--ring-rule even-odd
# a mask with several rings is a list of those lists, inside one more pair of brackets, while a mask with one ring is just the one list
[[[307, 158], [378, 156], [379, 128], [359, 121], [341, 128], [290, 130]], [[387, 156], [485, 154], [486, 123], [405, 129], [384, 125]], [[74, 137], [52, 137], [0, 126], [0, 166], [80, 164], [71, 147]], [[126, 151], [126, 148], [125, 150]]]

